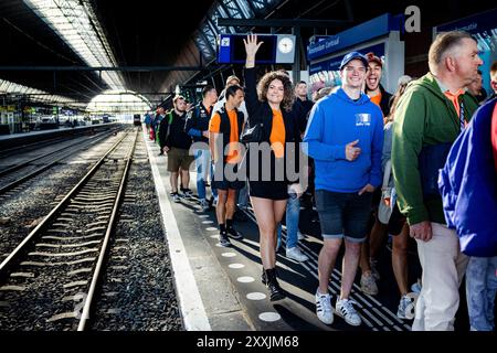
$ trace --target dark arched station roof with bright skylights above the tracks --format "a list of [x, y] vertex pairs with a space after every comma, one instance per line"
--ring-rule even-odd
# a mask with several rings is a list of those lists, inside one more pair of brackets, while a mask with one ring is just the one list
[[[337, 33], [385, 12], [403, 13], [411, 2], [1, 0], [0, 79], [10, 83], [11, 90], [25, 87], [22, 88], [24, 92], [43, 92], [45, 99], [54, 103], [65, 97], [67, 101], [87, 105], [94, 97], [112, 89], [140, 94], [155, 106], [172, 94], [177, 85], [188, 84], [199, 74], [198, 69], [165, 71], [165, 66], [203, 67], [207, 73], [215, 72], [218, 34], [251, 30], [269, 32], [268, 26], [219, 26], [216, 20], [220, 18], [346, 20], [341, 25], [318, 31], [308, 29], [305, 32], [303, 29], [303, 38], [308, 39], [313, 34]], [[427, 0], [419, 2], [424, 9], [433, 7]], [[457, 0], [440, 14], [422, 12], [422, 19], [470, 14], [477, 12], [478, 7], [484, 6]], [[440, 21], [444, 20], [441, 18]], [[275, 30], [290, 31], [288, 28]], [[128, 69], [115, 71], [113, 67]], [[151, 71], [152, 67], [157, 71]]]

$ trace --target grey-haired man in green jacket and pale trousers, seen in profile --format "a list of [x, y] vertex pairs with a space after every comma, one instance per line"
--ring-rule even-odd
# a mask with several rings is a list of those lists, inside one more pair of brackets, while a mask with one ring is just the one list
[[429, 52], [430, 73], [408, 86], [395, 113], [393, 176], [399, 207], [408, 217], [423, 267], [413, 331], [454, 330], [467, 257], [455, 231], [446, 226], [437, 176], [452, 143], [478, 107], [465, 87], [482, 64], [468, 33], [438, 35]]

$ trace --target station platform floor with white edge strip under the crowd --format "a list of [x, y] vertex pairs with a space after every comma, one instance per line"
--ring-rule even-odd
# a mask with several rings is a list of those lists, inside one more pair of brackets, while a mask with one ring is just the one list
[[[145, 132], [144, 132], [145, 133]], [[313, 211], [300, 212], [300, 231], [305, 239], [299, 240], [300, 250], [309, 259], [297, 263], [286, 258], [285, 252], [277, 254], [279, 284], [287, 291], [284, 300], [271, 302], [267, 290], [261, 282], [258, 229], [251, 207], [247, 222], [235, 222], [244, 235], [241, 240], [231, 238], [232, 247], [218, 245], [215, 210], [202, 212], [195, 199], [172, 202], [167, 172], [167, 156], [159, 156], [159, 147], [145, 136], [154, 182], [159, 197], [161, 221], [166, 229], [172, 270], [187, 330], [214, 331], [409, 331], [412, 321], [396, 317], [399, 292], [391, 269], [391, 253], [382, 250], [378, 296], [364, 295], [360, 290], [360, 270], [352, 288], [351, 299], [357, 301], [362, 318], [360, 327], [348, 325], [335, 314], [331, 325], [321, 323], [315, 313], [315, 292], [318, 286], [317, 260], [322, 245], [318, 222], [313, 222]], [[190, 188], [194, 190], [195, 173], [190, 173]], [[283, 232], [283, 248], [286, 228]], [[415, 253], [410, 252], [410, 264], [415, 263]], [[335, 307], [340, 290], [341, 258], [331, 275], [329, 291]], [[417, 269], [419, 270], [419, 269]], [[411, 266], [410, 277], [414, 277]], [[412, 281], [411, 281], [412, 284]]]

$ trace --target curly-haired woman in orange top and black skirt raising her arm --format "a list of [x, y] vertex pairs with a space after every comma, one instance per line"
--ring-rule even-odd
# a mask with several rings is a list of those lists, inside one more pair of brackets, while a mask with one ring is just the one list
[[[269, 72], [256, 87], [255, 54], [263, 42], [257, 43], [257, 36], [251, 34], [244, 43], [248, 127], [262, 124], [263, 132], [258, 143], [250, 143], [245, 159], [248, 164], [251, 202], [261, 234], [261, 259], [264, 268], [262, 281], [267, 286], [273, 301], [285, 298], [276, 279], [276, 228], [285, 213], [288, 193], [298, 196], [302, 194], [298, 179], [294, 178], [290, 182], [286, 170], [286, 164], [292, 161], [298, 164], [300, 135], [297, 115], [292, 110], [294, 89], [288, 75], [282, 71]], [[261, 152], [264, 146], [271, 146], [271, 151]], [[290, 153], [293, 158], [288, 159]], [[253, 154], [257, 154], [257, 158], [253, 159]], [[293, 167], [295, 171], [295, 165]], [[263, 178], [267, 174], [271, 174], [269, 178]]]

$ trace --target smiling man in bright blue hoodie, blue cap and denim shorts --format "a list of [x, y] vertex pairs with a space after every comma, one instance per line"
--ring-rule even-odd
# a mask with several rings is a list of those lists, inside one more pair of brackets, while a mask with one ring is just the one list
[[368, 232], [372, 192], [381, 184], [383, 147], [381, 110], [361, 92], [367, 67], [367, 58], [357, 52], [343, 57], [342, 85], [314, 106], [304, 137], [304, 148], [316, 165], [316, 206], [324, 238], [316, 313], [327, 324], [332, 322], [329, 278], [343, 238], [341, 288], [335, 310], [348, 324], [361, 324], [349, 295]]

